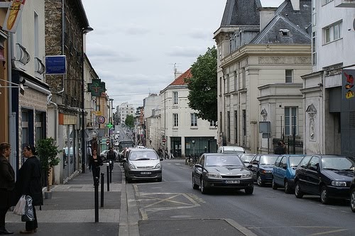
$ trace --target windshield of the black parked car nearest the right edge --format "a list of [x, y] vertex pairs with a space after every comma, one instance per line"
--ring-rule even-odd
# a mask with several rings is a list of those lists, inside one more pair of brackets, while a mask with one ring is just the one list
[[354, 157], [322, 157], [322, 168], [332, 170], [351, 170], [355, 168]]

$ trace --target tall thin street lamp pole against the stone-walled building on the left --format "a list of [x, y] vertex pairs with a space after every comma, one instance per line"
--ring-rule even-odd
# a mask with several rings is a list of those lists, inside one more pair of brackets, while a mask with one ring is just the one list
[[85, 157], [86, 157], [86, 147], [85, 147], [85, 79], [84, 79], [84, 35], [94, 30], [90, 26], [82, 28], [82, 173], [85, 173]]

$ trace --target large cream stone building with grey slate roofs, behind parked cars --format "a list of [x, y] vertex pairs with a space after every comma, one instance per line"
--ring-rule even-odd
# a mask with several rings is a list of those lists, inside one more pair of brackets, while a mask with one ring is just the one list
[[[311, 71], [311, 1], [228, 0], [217, 43], [218, 145], [273, 152], [273, 140], [303, 140], [301, 75]], [[270, 124], [270, 138], [259, 133]], [[302, 148], [297, 150], [302, 152]]]

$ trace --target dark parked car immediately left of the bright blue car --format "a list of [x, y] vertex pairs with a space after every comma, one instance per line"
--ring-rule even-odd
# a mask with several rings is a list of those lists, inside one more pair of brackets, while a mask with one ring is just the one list
[[273, 181], [273, 164], [279, 155], [277, 154], [257, 154], [248, 166], [253, 172], [253, 179], [258, 186], [263, 186]]

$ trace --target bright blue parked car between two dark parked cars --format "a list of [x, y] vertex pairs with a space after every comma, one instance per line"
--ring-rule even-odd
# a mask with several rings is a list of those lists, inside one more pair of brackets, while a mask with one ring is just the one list
[[305, 155], [283, 154], [276, 159], [273, 165], [273, 189], [285, 188], [285, 193], [291, 193], [295, 189], [295, 172], [297, 165]]

